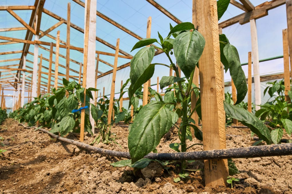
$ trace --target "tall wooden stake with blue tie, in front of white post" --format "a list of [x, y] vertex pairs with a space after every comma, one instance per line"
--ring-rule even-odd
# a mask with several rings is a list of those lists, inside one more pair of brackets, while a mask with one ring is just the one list
[[[90, 1], [86, 0], [87, 5], [85, 9], [86, 22], [84, 29], [84, 57], [83, 57], [83, 76], [82, 76], [82, 88], [84, 88], [84, 101], [81, 106], [85, 106], [85, 95], [86, 95], [86, 73], [87, 73], [87, 59], [88, 59], [88, 40], [89, 40], [89, 15], [90, 15]], [[84, 124], [85, 124], [85, 109], [81, 110], [81, 125], [80, 125], [80, 141], [84, 141]]]

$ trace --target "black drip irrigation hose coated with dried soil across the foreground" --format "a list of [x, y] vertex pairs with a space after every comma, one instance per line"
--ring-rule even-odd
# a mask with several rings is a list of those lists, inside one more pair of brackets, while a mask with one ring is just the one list
[[[21, 124], [22, 125], [22, 124]], [[22, 125], [24, 126], [24, 125]], [[25, 127], [25, 126], [24, 126]], [[50, 136], [86, 150], [93, 151], [98, 154], [116, 156], [119, 158], [131, 159], [129, 152], [117, 152], [108, 149], [102, 149], [81, 143], [75, 140], [62, 138], [55, 135], [46, 129], [39, 129]], [[230, 158], [255, 158], [265, 156], [285, 156], [292, 155], [292, 143], [286, 144], [275, 144], [275, 145], [260, 145], [252, 147], [240, 147], [231, 149], [218, 149], [218, 150], [207, 150], [199, 152], [179, 152], [179, 153], [150, 153], [145, 156], [149, 159], [157, 160], [210, 160], [210, 159], [230, 159]]]

